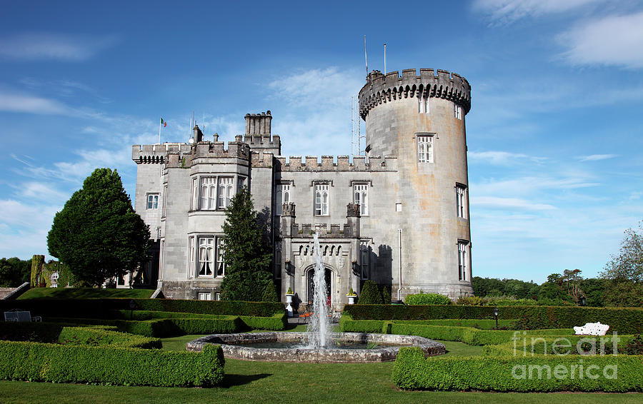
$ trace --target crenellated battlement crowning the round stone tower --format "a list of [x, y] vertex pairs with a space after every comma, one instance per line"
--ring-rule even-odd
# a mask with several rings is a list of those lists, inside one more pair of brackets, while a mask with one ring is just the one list
[[382, 74], [372, 71], [367, 84], [359, 91], [359, 115], [366, 119], [369, 111], [381, 103], [407, 98], [447, 99], [462, 106], [464, 113], [471, 109], [471, 86], [469, 81], [446, 70], [404, 69]]

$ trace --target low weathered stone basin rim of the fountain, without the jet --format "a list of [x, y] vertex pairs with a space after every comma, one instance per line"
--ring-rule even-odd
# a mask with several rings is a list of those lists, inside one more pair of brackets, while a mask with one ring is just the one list
[[[254, 348], [252, 343], [293, 343], [301, 346], [295, 348]], [[306, 348], [307, 333], [242, 333], [212, 334], [192, 340], [186, 345], [187, 350], [199, 352], [206, 344], [219, 344], [224, 357], [241, 360], [273, 360], [279, 362], [384, 362], [395, 360], [402, 346], [417, 346], [425, 355], [442, 355], [447, 351], [444, 344], [415, 335], [366, 334], [366, 333], [332, 333], [331, 343], [367, 343], [372, 349], [349, 348]], [[242, 344], [242, 345], [241, 345]], [[382, 344], [382, 346], [377, 346]]]

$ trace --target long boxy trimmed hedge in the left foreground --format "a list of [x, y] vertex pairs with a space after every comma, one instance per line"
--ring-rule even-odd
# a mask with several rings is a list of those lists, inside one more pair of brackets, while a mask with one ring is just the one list
[[219, 345], [201, 353], [0, 341], [0, 379], [54, 383], [209, 386], [224, 377]]

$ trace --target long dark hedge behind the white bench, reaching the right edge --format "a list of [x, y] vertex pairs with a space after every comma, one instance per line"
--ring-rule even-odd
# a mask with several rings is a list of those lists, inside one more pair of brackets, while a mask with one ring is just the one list
[[[354, 320], [434, 320], [439, 318], [494, 318], [494, 307], [472, 305], [347, 305], [344, 313]], [[643, 308], [562, 306], [507, 306], [499, 318], [524, 320], [539, 328], [572, 328], [574, 325], [609, 324], [610, 331], [635, 334], [643, 331]]]

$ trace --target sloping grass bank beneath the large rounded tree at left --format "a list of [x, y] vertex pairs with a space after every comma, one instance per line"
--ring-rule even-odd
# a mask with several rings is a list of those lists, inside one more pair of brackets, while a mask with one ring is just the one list
[[33, 288], [23, 293], [17, 300], [87, 298], [148, 299], [152, 293], [154, 293], [154, 289]]

